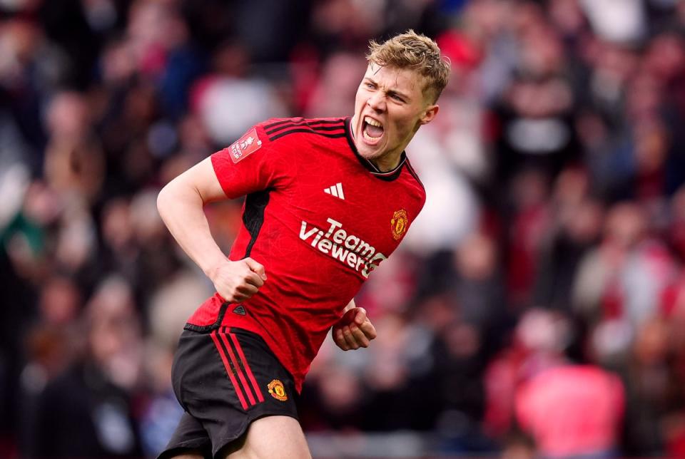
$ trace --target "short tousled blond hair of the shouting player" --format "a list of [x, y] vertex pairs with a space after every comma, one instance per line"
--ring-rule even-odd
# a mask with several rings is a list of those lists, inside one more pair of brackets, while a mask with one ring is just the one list
[[409, 29], [383, 43], [371, 40], [366, 60], [379, 66], [410, 68], [426, 78], [423, 93], [435, 103], [450, 79], [450, 61], [435, 41]]

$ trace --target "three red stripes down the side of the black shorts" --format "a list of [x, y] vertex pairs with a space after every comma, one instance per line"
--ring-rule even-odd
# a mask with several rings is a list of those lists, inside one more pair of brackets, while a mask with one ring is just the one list
[[[216, 329], [210, 335], [219, 351], [219, 356], [221, 356], [228, 378], [235, 388], [235, 393], [238, 395], [243, 410], [247, 410], [249, 406], [255, 406], [258, 401], [263, 402], [264, 396], [247, 359], [245, 359], [238, 337], [233, 333], [228, 333], [227, 326], [223, 327], [220, 333]], [[248, 402], [250, 403], [249, 406]]]

